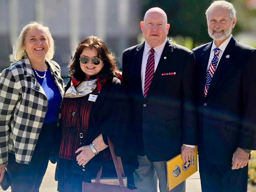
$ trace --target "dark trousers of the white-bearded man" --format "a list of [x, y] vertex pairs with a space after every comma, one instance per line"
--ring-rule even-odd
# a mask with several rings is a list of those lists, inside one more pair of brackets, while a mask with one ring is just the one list
[[211, 164], [204, 153], [199, 153], [199, 173], [202, 192], [246, 192], [248, 164], [232, 170], [232, 164]]

